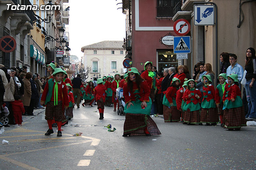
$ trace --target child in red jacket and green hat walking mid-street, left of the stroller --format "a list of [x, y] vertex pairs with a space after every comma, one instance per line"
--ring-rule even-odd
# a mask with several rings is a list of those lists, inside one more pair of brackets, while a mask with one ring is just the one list
[[106, 92], [106, 88], [103, 84], [103, 80], [101, 78], [99, 78], [97, 80], [97, 86], [94, 88], [95, 90], [95, 100], [97, 102], [98, 105], [98, 109], [100, 112], [100, 119], [104, 119], [103, 114], [104, 114], [104, 102], [106, 100], [106, 96], [105, 96], [105, 92]]

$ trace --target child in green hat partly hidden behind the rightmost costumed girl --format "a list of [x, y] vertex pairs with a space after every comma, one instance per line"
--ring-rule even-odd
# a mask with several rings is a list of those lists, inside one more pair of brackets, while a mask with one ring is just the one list
[[215, 90], [215, 101], [216, 101], [216, 105], [218, 107], [218, 114], [220, 115], [220, 126], [224, 127], [223, 124], [223, 102], [222, 102], [222, 98], [223, 98], [223, 93], [225, 90], [225, 86], [226, 86], [226, 79], [227, 79], [227, 74], [226, 73], [221, 73], [218, 76], [218, 80], [220, 82], [220, 84], [218, 84], [218, 86], [216, 87]]

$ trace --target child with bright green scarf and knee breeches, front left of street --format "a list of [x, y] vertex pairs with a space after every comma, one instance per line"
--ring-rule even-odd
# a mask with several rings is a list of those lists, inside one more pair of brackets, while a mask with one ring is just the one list
[[62, 105], [68, 108], [68, 90], [66, 84], [62, 81], [63, 76], [66, 73], [61, 68], [55, 68], [53, 77], [46, 83], [44, 92], [41, 98], [41, 105], [46, 105], [45, 119], [47, 120], [49, 129], [45, 135], [53, 133], [52, 130], [52, 119], [54, 118], [58, 125], [58, 137], [62, 136], [61, 125], [62, 125]]

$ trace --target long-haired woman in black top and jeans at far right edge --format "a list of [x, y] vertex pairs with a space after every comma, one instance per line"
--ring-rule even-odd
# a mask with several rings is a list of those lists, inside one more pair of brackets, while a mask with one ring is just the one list
[[248, 113], [246, 119], [256, 118], [256, 56], [255, 49], [250, 47], [246, 51], [246, 64], [245, 64], [246, 75], [246, 96], [248, 102]]

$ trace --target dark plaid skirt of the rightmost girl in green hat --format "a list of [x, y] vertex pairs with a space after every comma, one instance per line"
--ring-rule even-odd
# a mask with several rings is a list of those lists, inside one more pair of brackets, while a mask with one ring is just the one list
[[244, 107], [225, 109], [223, 115], [224, 127], [228, 129], [239, 129], [246, 126]]

